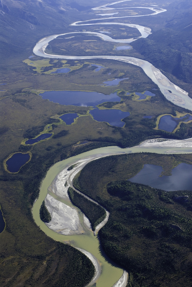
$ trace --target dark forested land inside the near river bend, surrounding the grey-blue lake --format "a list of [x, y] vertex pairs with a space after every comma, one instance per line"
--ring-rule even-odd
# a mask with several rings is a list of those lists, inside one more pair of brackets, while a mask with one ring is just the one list
[[75, 186], [110, 212], [99, 231], [106, 254], [131, 272], [132, 287], [191, 286], [192, 192], [165, 192], [127, 181], [143, 164], [163, 166], [170, 175], [192, 155], [128, 154], [88, 163]]

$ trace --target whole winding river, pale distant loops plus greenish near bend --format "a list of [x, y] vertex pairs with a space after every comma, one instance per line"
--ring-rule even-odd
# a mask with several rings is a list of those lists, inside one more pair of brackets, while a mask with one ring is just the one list
[[[113, 8], [111, 6], [122, 3], [122, 2], [127, 2], [131, 0], [123, 0], [123, 1], [116, 1], [113, 3], [108, 3], [103, 6], [99, 6], [96, 8], [93, 8], [93, 11], [97, 10], [117, 10], [117, 9], [125, 9], [125, 8]], [[166, 12], [166, 9], [162, 8], [157, 8], [157, 7], [129, 7], [129, 8], [140, 8], [140, 9], [149, 9], [152, 11], [150, 14], [145, 14], [145, 15], [134, 15], [134, 16], [116, 16], [116, 17], [103, 17], [103, 18], [95, 18], [95, 19], [90, 19], [86, 21], [78, 21], [74, 22], [71, 25], [72, 26], [88, 26], [88, 25], [121, 25], [121, 26], [129, 26], [132, 28], [138, 29], [138, 31], [141, 33], [141, 36], [138, 38], [146, 38], [148, 35], [151, 34], [151, 29], [148, 27], [144, 27], [138, 24], [126, 24], [126, 23], [120, 23], [120, 22], [97, 22], [93, 23], [94, 21], [103, 21], [107, 19], [119, 19], [119, 18], [131, 18], [131, 17], [144, 17], [144, 16], [150, 16], [150, 15], [157, 15], [162, 12]], [[117, 13], [114, 13], [117, 14]], [[101, 15], [107, 15], [106, 14], [101, 14]], [[110, 14], [109, 14], [110, 15]], [[113, 15], [113, 13], [111, 14]], [[89, 22], [89, 23], [88, 23]], [[91, 23], [92, 22], [92, 23]], [[58, 35], [51, 35], [47, 36], [41, 40], [38, 41], [38, 43], [35, 45], [33, 49], [33, 53], [38, 55], [38, 56], [43, 56], [45, 58], [63, 58], [63, 59], [111, 59], [111, 60], [118, 60], [122, 62], [126, 62], [129, 64], [133, 64], [136, 66], [139, 66], [143, 69], [145, 74], [154, 81], [159, 86], [159, 89], [163, 93], [163, 95], [166, 97], [166, 99], [172, 101], [174, 104], [178, 106], [182, 106], [184, 108], [188, 108], [192, 110], [192, 100], [188, 96], [188, 93], [184, 90], [182, 90], [180, 87], [177, 85], [171, 83], [169, 79], [164, 76], [159, 69], [154, 67], [151, 63], [134, 58], [134, 57], [129, 57], [129, 56], [61, 56], [61, 55], [52, 55], [52, 54], [47, 54], [45, 52], [45, 49], [49, 42], [58, 36], [61, 35], [68, 35], [68, 34], [74, 34], [78, 35], [78, 33], [85, 33], [88, 35], [95, 35], [97, 37], [102, 38], [104, 41], [109, 41], [109, 42], [116, 42], [116, 43], [131, 43], [136, 39], [130, 38], [130, 39], [113, 39], [108, 35], [105, 35], [104, 33], [98, 33], [98, 32], [86, 32], [86, 31], [75, 31], [75, 32], [70, 32], [70, 33], [63, 33], [63, 34], [58, 34]], [[93, 235], [92, 231], [87, 231], [86, 233], [79, 234], [79, 235], [62, 235], [59, 233], [56, 233], [49, 229], [44, 222], [40, 220], [39, 216], [39, 210], [40, 206], [42, 204], [42, 201], [45, 199], [47, 196], [48, 188], [51, 185], [51, 183], [54, 181], [56, 176], [62, 172], [63, 169], [69, 167], [70, 165], [74, 163], [78, 163], [79, 161], [85, 160], [85, 163], [88, 163], [90, 160], [94, 160], [95, 158], [99, 157], [104, 157], [104, 156], [109, 156], [113, 154], [121, 154], [121, 153], [129, 153], [129, 152], [141, 152], [141, 151], [149, 151], [149, 152], [156, 152], [156, 153], [164, 153], [164, 152], [170, 152], [170, 153], [192, 153], [192, 148], [191, 147], [177, 147], [171, 148], [171, 151], [168, 150], [167, 147], [142, 147], [142, 146], [137, 146], [137, 147], [132, 147], [129, 149], [121, 149], [120, 147], [103, 147], [99, 149], [94, 149], [92, 151], [88, 151], [86, 153], [68, 158], [64, 161], [61, 161], [59, 163], [56, 163], [53, 167], [50, 168], [50, 170], [47, 172], [47, 176], [45, 179], [42, 181], [42, 186], [40, 190], [40, 195], [35, 202], [33, 206], [33, 218], [36, 222], [36, 224], [44, 231], [48, 236], [53, 238], [54, 240], [58, 240], [61, 242], [69, 242], [72, 246], [84, 249], [87, 252], [90, 252], [95, 256], [97, 261], [99, 262], [99, 265], [101, 266], [101, 275], [97, 279], [96, 286], [97, 287], [112, 287], [112, 286], [119, 286], [119, 287], [125, 287], [127, 285], [127, 274], [123, 274], [123, 270], [120, 268], [116, 268], [113, 265], [111, 265], [109, 262], [105, 260], [105, 258], [100, 254], [99, 252], [99, 240], [96, 236]], [[54, 196], [55, 199], [57, 199], [60, 202], [64, 202], [64, 200], [56, 195]], [[82, 219], [83, 214], [78, 211], [79, 218]], [[121, 277], [122, 276], [122, 277]], [[119, 278], [121, 277], [121, 280]], [[118, 283], [117, 283], [118, 282]]]

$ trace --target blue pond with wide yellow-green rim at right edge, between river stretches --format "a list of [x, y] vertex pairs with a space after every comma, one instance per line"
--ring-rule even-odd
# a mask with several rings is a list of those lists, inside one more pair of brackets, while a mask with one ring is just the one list
[[179, 122], [188, 122], [192, 120], [192, 116], [187, 114], [184, 117], [172, 117], [171, 115], [164, 115], [159, 120], [158, 129], [172, 132], [177, 127]]

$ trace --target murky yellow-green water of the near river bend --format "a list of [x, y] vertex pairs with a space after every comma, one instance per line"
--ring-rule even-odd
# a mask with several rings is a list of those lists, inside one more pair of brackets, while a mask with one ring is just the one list
[[[161, 147], [131, 147], [127, 149], [121, 149], [120, 147], [102, 147], [99, 149], [93, 149], [91, 151], [79, 154], [77, 156], [73, 156], [71, 158], [68, 158], [64, 161], [58, 162], [55, 165], [53, 165], [49, 171], [47, 172], [47, 175], [45, 179], [42, 181], [42, 186], [40, 189], [40, 195], [38, 199], [36, 200], [34, 206], [33, 206], [33, 218], [36, 222], [36, 224], [40, 227], [42, 231], [44, 231], [47, 236], [53, 238], [56, 241], [61, 242], [69, 242], [74, 247], [79, 247], [82, 249], [87, 250], [88, 252], [92, 253], [101, 264], [102, 267], [102, 274], [100, 275], [99, 279], [97, 280], [97, 287], [112, 287], [115, 282], [117, 282], [120, 277], [123, 274], [123, 270], [120, 268], [116, 268], [115, 266], [111, 265], [106, 261], [106, 259], [100, 254], [99, 252], [99, 240], [97, 239], [97, 236], [93, 235], [93, 232], [87, 232], [86, 234], [79, 234], [79, 235], [61, 235], [58, 234], [51, 229], [49, 229], [44, 222], [40, 220], [39, 216], [39, 210], [40, 206], [45, 199], [47, 195], [47, 189], [51, 185], [52, 181], [55, 179], [57, 174], [59, 174], [65, 167], [70, 166], [77, 162], [80, 159], [88, 158], [89, 156], [107, 156], [107, 155], [113, 155], [113, 154], [122, 154], [122, 153], [135, 153], [135, 152], [155, 152], [155, 153], [165, 153], [166, 151], [177, 151], [176, 153], [192, 153], [192, 148], [161, 148]], [[59, 199], [59, 198], [57, 198]], [[62, 201], [61, 199], [59, 199]], [[80, 216], [81, 217], [81, 216]]]

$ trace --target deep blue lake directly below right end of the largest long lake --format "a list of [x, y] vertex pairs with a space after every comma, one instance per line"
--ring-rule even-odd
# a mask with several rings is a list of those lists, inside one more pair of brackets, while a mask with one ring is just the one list
[[119, 127], [123, 127], [125, 124], [121, 120], [130, 115], [129, 112], [122, 112], [121, 110], [99, 110], [98, 108], [90, 110], [89, 113], [97, 122], [108, 122], [111, 126]]

